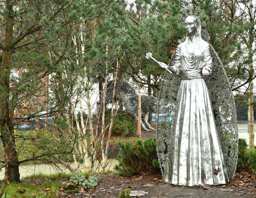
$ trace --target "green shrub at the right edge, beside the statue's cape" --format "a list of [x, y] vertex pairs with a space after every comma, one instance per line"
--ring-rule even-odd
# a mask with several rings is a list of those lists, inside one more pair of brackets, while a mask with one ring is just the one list
[[256, 148], [247, 148], [245, 139], [238, 140], [238, 161], [236, 172], [242, 170], [256, 170]]

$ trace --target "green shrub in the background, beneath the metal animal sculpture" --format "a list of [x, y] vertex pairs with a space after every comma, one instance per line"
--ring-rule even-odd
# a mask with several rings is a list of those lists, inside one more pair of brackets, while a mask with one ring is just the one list
[[[106, 119], [110, 121], [111, 111], [107, 111]], [[112, 133], [116, 135], [133, 135], [137, 130], [137, 121], [132, 119], [127, 111], [118, 110], [114, 117], [114, 127]]]

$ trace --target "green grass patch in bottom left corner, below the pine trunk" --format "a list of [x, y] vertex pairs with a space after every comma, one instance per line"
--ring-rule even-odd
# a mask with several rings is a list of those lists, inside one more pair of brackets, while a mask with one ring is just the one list
[[[3, 184], [0, 185], [2, 188]], [[37, 186], [28, 182], [10, 183], [2, 198], [50, 198], [58, 195], [58, 190], [61, 188], [60, 182], [44, 182], [42, 185]]]

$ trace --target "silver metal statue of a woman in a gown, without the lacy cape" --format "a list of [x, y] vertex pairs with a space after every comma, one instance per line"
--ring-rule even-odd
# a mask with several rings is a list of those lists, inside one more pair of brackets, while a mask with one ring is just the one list
[[201, 38], [201, 23], [196, 16], [188, 16], [185, 26], [187, 38], [176, 49], [175, 64], [158, 62], [181, 75], [164, 182], [188, 186], [225, 184], [228, 171], [203, 79], [212, 70], [210, 47]]

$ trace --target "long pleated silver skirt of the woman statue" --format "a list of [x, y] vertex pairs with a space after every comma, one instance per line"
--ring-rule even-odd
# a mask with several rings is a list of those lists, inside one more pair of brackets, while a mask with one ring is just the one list
[[202, 78], [181, 81], [164, 182], [188, 186], [228, 182], [209, 91]]

